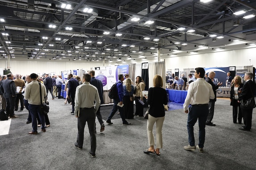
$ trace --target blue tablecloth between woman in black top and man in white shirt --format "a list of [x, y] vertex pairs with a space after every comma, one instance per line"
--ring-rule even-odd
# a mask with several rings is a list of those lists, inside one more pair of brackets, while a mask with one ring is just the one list
[[184, 103], [188, 92], [184, 90], [166, 89], [166, 93], [169, 96], [169, 101], [172, 101], [175, 103]]

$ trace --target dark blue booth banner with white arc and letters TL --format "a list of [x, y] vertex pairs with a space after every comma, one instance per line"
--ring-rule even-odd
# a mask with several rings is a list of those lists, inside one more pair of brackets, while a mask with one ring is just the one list
[[206, 74], [209, 75], [209, 72], [214, 71], [214, 85], [217, 85], [218, 82], [222, 82], [222, 86], [226, 85], [227, 73], [229, 72], [229, 67], [215, 67], [215, 68], [205, 68]]

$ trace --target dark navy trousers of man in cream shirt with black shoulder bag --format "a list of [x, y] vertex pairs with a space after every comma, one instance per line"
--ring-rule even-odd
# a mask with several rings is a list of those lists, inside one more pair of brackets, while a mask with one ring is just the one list
[[45, 117], [43, 114], [40, 113], [41, 112], [40, 105], [30, 105], [29, 104], [29, 111], [30, 111], [31, 117], [32, 117], [33, 132], [37, 132], [37, 130], [38, 130], [37, 115], [39, 116], [39, 119], [41, 121], [42, 130], [45, 129]]

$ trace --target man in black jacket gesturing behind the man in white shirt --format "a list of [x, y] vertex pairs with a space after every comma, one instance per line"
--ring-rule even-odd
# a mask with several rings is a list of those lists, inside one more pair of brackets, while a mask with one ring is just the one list
[[214, 116], [214, 105], [215, 105], [215, 101], [216, 101], [216, 90], [218, 89], [218, 87], [220, 85], [222, 85], [222, 82], [218, 82], [217, 85], [214, 85], [212, 79], [214, 79], [215, 77], [215, 72], [211, 71], [208, 75], [208, 77], [206, 78], [206, 82], [208, 82], [214, 91], [214, 99], [210, 99], [209, 101], [209, 114], [207, 116], [207, 120], [206, 120], [206, 125], [210, 125], [210, 126], [215, 126], [215, 124], [213, 124], [213, 122], [211, 122], [213, 120], [213, 116]]

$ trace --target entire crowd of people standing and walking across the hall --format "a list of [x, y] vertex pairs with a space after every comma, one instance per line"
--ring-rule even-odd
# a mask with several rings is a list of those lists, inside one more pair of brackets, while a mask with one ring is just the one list
[[[222, 83], [214, 85], [215, 73], [209, 72], [207, 77], [203, 68], [196, 68], [194, 73], [195, 79], [189, 83], [189, 89], [183, 105], [184, 112], [188, 113], [187, 129], [189, 135], [189, 145], [184, 146], [185, 150], [196, 150], [203, 152], [205, 142], [206, 125], [215, 126], [212, 122], [214, 117], [214, 104], [216, 101], [216, 89]], [[233, 106], [233, 122], [244, 125], [239, 130], [250, 131], [252, 127], [252, 109], [244, 109], [241, 107], [242, 100], [248, 100], [254, 97], [256, 84], [252, 81], [253, 74], [248, 72], [244, 75], [244, 84], [241, 77], [235, 76], [234, 79], [227, 74], [227, 82], [231, 85], [231, 105]], [[75, 146], [78, 149], [83, 148], [84, 127], [88, 123], [88, 129], [91, 138], [91, 149], [89, 154], [95, 157], [96, 151], [96, 117], [101, 125], [100, 132], [105, 130], [105, 125], [101, 116], [101, 104], [103, 101], [103, 84], [95, 77], [95, 71], [90, 70], [84, 74], [82, 79], [78, 76], [68, 75], [67, 82], [62, 80], [61, 76], [50, 77], [48, 74], [42, 79], [38, 75], [32, 73], [25, 78], [19, 74], [12, 73], [0, 77], [0, 95], [2, 109], [6, 109], [9, 117], [18, 117], [14, 111], [18, 110], [19, 102], [22, 111], [24, 106], [29, 110], [29, 117], [26, 123], [32, 122], [33, 130], [29, 134], [38, 134], [37, 128], [41, 127], [42, 132], [46, 132], [46, 127], [50, 126], [49, 117], [42, 114], [40, 110], [41, 101], [47, 102], [47, 93], [50, 91], [52, 100], [55, 97], [61, 97], [61, 86], [65, 83], [65, 91], [67, 100], [71, 100], [72, 110], [78, 118], [78, 134]], [[126, 78], [126, 79], [125, 79]], [[176, 83], [184, 84], [183, 78], [174, 77]], [[189, 80], [192, 80], [189, 77]], [[167, 81], [167, 77], [166, 77]], [[227, 83], [226, 82], [226, 83]], [[129, 78], [129, 74], [118, 75], [118, 81], [115, 83], [117, 89], [117, 97], [113, 98], [113, 109], [106, 120], [106, 123], [112, 125], [111, 118], [119, 111], [123, 125], [131, 125], [126, 119], [134, 119], [134, 115], [143, 116], [143, 98], [149, 105], [147, 120], [147, 136], [149, 148], [144, 150], [146, 154], [160, 155], [159, 149], [163, 147], [162, 127], [164, 123], [165, 111], [164, 105], [168, 104], [167, 93], [163, 88], [163, 78], [159, 75], [153, 77], [153, 87], [148, 89], [148, 95], [143, 96], [145, 90], [145, 82], [142, 77], [137, 76], [133, 85], [133, 81]], [[17, 87], [20, 87], [19, 89]], [[41, 95], [38, 95], [40, 94]], [[41, 97], [41, 98], [40, 98]], [[134, 101], [136, 111], [134, 113]], [[189, 107], [190, 106], [190, 107]], [[199, 125], [199, 142], [195, 146], [193, 126], [197, 122]], [[153, 126], [156, 124], [156, 145], [153, 135]]]

